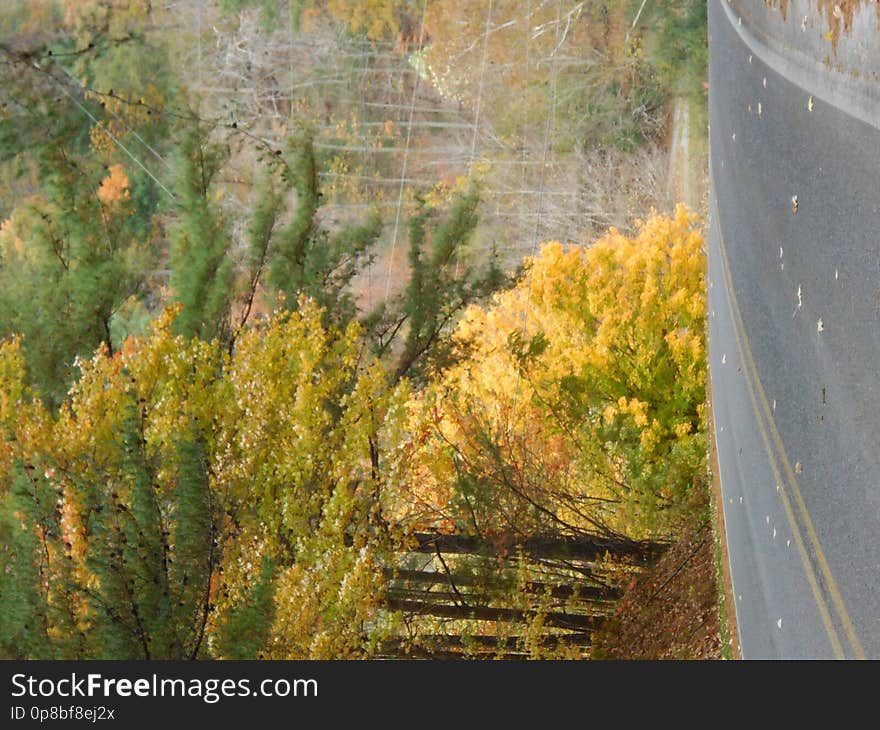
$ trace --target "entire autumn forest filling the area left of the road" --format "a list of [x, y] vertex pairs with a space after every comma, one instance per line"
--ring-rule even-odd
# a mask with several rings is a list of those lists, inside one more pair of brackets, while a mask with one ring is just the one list
[[694, 0], [5, 4], [0, 655], [717, 654], [705, 64]]

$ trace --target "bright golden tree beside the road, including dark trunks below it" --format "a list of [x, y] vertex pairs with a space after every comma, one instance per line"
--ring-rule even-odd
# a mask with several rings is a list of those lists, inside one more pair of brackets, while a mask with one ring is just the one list
[[[705, 480], [702, 237], [684, 208], [546, 244], [412, 400], [389, 608], [414, 656], [570, 656]], [[580, 648], [579, 648], [580, 647]]]

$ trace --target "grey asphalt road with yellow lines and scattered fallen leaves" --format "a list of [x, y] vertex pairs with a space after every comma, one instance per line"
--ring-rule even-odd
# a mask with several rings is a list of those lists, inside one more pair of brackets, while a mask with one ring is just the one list
[[709, 0], [709, 34], [710, 376], [742, 655], [880, 658], [880, 130], [823, 100], [827, 76], [767, 65], [735, 3]]

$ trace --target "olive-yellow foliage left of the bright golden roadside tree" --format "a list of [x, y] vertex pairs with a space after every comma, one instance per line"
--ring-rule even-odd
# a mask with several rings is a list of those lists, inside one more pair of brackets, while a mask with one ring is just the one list
[[[145, 337], [112, 355], [102, 348], [80, 361], [57, 417], [26, 387], [20, 343], [0, 344], [0, 484], [12, 482], [15, 464], [45, 465], [40, 479], [59, 495], [63, 545], [46, 549], [68, 555], [78, 585], [91, 585], [89, 495], [111, 490], [114, 503], [133, 499], [121, 436], [132, 404], [159, 505], [179, 489], [180, 442], [195, 424], [223, 551], [209, 640], [246, 602], [267, 558], [278, 566], [272, 594], [284, 609], [268, 627], [269, 655], [362, 654], [357, 627], [375, 618], [384, 580], [376, 553], [383, 502], [371, 455], [382, 450], [393, 479], [401, 457], [386, 443], [403, 438], [406, 384], [389, 388], [382, 368], [366, 362], [360, 328], [325, 329], [321, 310], [305, 299], [242, 333], [231, 355], [218, 341], [174, 335], [178, 313], [169, 308]], [[163, 519], [173, 523], [174, 515]], [[78, 620], [88, 623], [88, 609], [81, 611]]]

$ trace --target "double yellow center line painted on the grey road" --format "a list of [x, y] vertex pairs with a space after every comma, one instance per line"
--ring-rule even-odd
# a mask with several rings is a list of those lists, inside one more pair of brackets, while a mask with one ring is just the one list
[[[715, 187], [713, 185], [713, 191], [714, 190]], [[788, 523], [791, 527], [792, 536], [794, 537], [794, 542], [797, 546], [798, 554], [800, 555], [801, 562], [804, 566], [804, 572], [806, 573], [807, 581], [810, 584], [810, 589], [813, 592], [813, 597], [816, 599], [816, 605], [819, 608], [819, 614], [822, 618], [822, 623], [825, 626], [825, 630], [828, 632], [828, 638], [831, 641], [834, 655], [838, 659], [846, 658], [846, 653], [844, 652], [837, 627], [835, 626], [832, 619], [831, 609], [828, 605], [825, 593], [823, 593], [822, 588], [819, 584], [819, 576], [821, 576], [822, 582], [824, 583], [825, 591], [830, 597], [831, 604], [837, 612], [840, 626], [842, 627], [843, 634], [849, 644], [852, 655], [856, 659], [864, 659], [865, 651], [862, 648], [861, 642], [859, 642], [859, 638], [856, 635], [855, 627], [853, 626], [852, 620], [850, 619], [846, 607], [843, 604], [843, 598], [841, 597], [840, 591], [837, 588], [837, 583], [835, 582], [834, 577], [831, 574], [831, 569], [828, 566], [828, 561], [825, 558], [825, 553], [822, 551], [822, 546], [819, 543], [819, 537], [816, 534], [815, 528], [813, 527], [813, 521], [810, 518], [810, 513], [807, 511], [807, 506], [804, 503], [803, 496], [801, 495], [801, 490], [798, 487], [797, 479], [794, 475], [794, 470], [791, 468], [791, 462], [788, 459], [788, 455], [785, 451], [785, 446], [783, 446], [782, 443], [782, 437], [779, 435], [779, 430], [776, 428], [776, 422], [773, 420], [773, 415], [767, 402], [767, 395], [764, 392], [764, 386], [761, 384], [761, 378], [758, 375], [758, 369], [755, 366], [755, 360], [752, 357], [752, 349], [749, 345], [749, 338], [746, 334], [742, 315], [740, 314], [739, 304], [737, 303], [736, 299], [736, 290], [734, 289], [733, 279], [731, 278], [730, 274], [730, 264], [727, 259], [727, 248], [724, 243], [724, 234], [721, 231], [721, 219], [718, 215], [718, 201], [715, 199], [714, 194], [711, 196], [711, 198], [715, 228], [718, 232], [718, 249], [721, 253], [724, 288], [727, 293], [728, 303], [730, 305], [730, 313], [733, 324], [733, 335], [736, 339], [736, 347], [739, 351], [740, 360], [743, 363], [743, 374], [745, 375], [746, 386], [749, 391], [749, 397], [752, 401], [752, 409], [755, 412], [755, 420], [758, 424], [758, 430], [761, 433], [761, 439], [764, 442], [764, 448], [767, 451], [767, 457], [770, 461], [770, 468], [773, 471], [773, 478], [776, 480], [777, 491], [779, 492], [780, 499], [782, 500], [782, 506], [785, 510], [785, 515], [788, 518]], [[776, 447], [776, 453], [774, 453], [774, 444]], [[779, 462], [777, 462], [777, 453], [779, 457]], [[782, 478], [780, 473], [780, 463], [781, 471], [784, 472], [786, 477], [785, 479]], [[789, 496], [789, 491], [791, 492], [791, 496]], [[794, 501], [794, 506], [797, 509], [797, 513], [795, 513], [795, 510], [792, 508], [792, 500]], [[800, 522], [798, 521], [798, 517], [800, 518]], [[803, 527], [803, 532], [806, 533], [806, 543], [802, 534], [801, 527]], [[815, 558], [815, 562], [818, 565], [818, 576], [816, 573], [816, 568], [813, 564], [813, 560], [811, 560], [810, 554], [807, 551], [807, 543], [809, 544], [809, 547], [811, 548], [812, 554]]]

